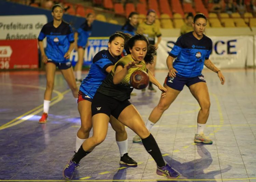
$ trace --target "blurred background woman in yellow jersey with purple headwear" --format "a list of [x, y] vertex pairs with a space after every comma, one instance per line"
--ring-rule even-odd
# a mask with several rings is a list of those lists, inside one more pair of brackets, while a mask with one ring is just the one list
[[[139, 24], [137, 31], [138, 33], [146, 36], [150, 44], [155, 45], [155, 47], [158, 48], [158, 44], [161, 41], [162, 34], [160, 32], [160, 27], [155, 24], [155, 20], [156, 12], [154, 10], [148, 10], [146, 21]], [[157, 37], [157, 42], [155, 42], [155, 37]], [[154, 62], [152, 63], [152, 65], [147, 66], [147, 68], [152, 72], [153, 75], [155, 75], [155, 66], [156, 56], [154, 57]], [[152, 86], [152, 82], [149, 83], [148, 90], [150, 90], [151, 92], [156, 92], [156, 90]], [[143, 89], [142, 91], [145, 91], [145, 89]]]

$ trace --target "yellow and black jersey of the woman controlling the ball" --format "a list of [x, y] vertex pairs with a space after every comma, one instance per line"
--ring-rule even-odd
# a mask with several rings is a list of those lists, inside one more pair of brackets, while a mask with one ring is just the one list
[[119, 101], [125, 101], [130, 98], [131, 92], [133, 88], [130, 85], [130, 77], [131, 74], [136, 70], [143, 70], [147, 72], [146, 63], [145, 61], [138, 62], [137, 65], [142, 65], [142, 67], [136, 67], [136, 68], [130, 68], [128, 70], [128, 73], [126, 74], [125, 78], [121, 81], [119, 84], [113, 83], [113, 77], [115, 75], [115, 70], [117, 66], [124, 67], [127, 63], [134, 61], [131, 57], [131, 55], [127, 55], [119, 61], [117, 61], [111, 70], [111, 72], [108, 74], [108, 76], [104, 79], [100, 87], [98, 88], [97, 92], [102, 93], [104, 95], [108, 95], [110, 97], [113, 97]]

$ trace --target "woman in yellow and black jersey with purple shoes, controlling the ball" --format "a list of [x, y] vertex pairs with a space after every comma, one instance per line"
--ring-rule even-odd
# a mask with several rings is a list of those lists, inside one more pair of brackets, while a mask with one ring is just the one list
[[[130, 76], [136, 70], [148, 71], [146, 64], [153, 63], [156, 54], [155, 47], [150, 45], [143, 35], [134, 35], [128, 40], [127, 56], [118, 60], [108, 76], [98, 88], [91, 104], [93, 136], [86, 139], [63, 170], [64, 177], [71, 179], [79, 162], [97, 145], [104, 141], [111, 115], [128, 126], [142, 138], [147, 152], [157, 164], [157, 174], [168, 178], [178, 178], [180, 175], [162, 158], [161, 151], [136, 110], [129, 102], [133, 88], [130, 85]], [[161, 90], [165, 97], [166, 88], [148, 71], [150, 81]]]

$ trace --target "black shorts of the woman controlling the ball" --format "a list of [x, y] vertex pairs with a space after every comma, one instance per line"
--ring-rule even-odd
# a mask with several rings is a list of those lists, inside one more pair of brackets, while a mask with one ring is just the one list
[[91, 116], [104, 113], [118, 119], [120, 113], [129, 105], [131, 105], [131, 103], [128, 100], [118, 101], [110, 96], [96, 92], [93, 97], [93, 103], [91, 103]]

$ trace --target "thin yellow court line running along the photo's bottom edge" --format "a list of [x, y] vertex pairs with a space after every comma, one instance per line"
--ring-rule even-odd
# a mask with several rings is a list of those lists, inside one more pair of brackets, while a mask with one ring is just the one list
[[[148, 180], [68, 180], [68, 181], [77, 181], [77, 182], [89, 182], [89, 181], [238, 181], [238, 180], [254, 180], [256, 178], [230, 178], [230, 179], [148, 179]], [[67, 180], [0, 180], [8, 182], [67, 182]]]

